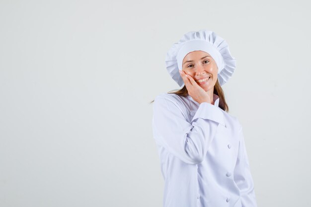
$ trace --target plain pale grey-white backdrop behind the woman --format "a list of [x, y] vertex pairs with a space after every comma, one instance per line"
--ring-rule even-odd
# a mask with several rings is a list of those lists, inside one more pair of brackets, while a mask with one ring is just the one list
[[200, 29], [236, 58], [258, 207], [310, 207], [310, 19], [307, 0], [0, 0], [0, 207], [161, 207], [150, 101]]

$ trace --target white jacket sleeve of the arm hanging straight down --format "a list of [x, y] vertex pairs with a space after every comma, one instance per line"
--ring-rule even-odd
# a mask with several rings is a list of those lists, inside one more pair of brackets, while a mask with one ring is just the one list
[[242, 207], [257, 207], [254, 183], [250, 172], [242, 127], [239, 132], [239, 147], [233, 179], [240, 190]]

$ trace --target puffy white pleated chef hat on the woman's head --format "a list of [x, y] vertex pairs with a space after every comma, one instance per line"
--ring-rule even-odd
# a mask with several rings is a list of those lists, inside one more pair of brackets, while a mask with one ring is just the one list
[[182, 70], [184, 57], [193, 51], [204, 51], [212, 56], [218, 67], [220, 85], [225, 84], [232, 76], [236, 63], [227, 42], [213, 31], [206, 29], [191, 31], [184, 34], [166, 53], [166, 69], [179, 86], [184, 86], [184, 82], [178, 69]]

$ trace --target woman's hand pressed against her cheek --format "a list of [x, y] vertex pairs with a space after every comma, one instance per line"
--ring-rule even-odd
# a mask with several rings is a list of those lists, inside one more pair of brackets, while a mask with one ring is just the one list
[[201, 86], [199, 86], [199, 84], [193, 79], [193, 77], [191, 77], [191, 75], [186, 74], [183, 70], [179, 70], [179, 73], [185, 83], [188, 94], [193, 98], [193, 100], [199, 104], [202, 102], [212, 102], [207, 92]]

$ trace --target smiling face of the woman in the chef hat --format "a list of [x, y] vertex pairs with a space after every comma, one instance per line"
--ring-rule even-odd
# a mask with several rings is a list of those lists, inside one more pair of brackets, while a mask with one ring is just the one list
[[218, 67], [210, 54], [203, 51], [188, 53], [182, 61], [182, 70], [191, 75], [205, 91], [214, 91]]

